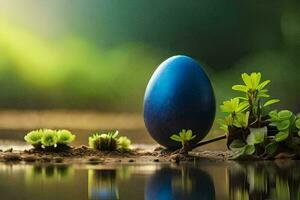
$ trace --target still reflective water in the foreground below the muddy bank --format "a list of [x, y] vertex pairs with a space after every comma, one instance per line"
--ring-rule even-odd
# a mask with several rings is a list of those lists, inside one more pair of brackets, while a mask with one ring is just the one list
[[300, 162], [0, 165], [1, 199], [299, 199]]

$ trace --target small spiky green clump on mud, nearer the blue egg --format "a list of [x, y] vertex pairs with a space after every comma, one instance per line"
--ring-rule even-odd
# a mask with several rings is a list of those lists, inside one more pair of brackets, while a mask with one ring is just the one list
[[95, 133], [89, 137], [89, 146], [100, 151], [129, 151], [131, 141], [124, 136], [117, 138], [119, 131]]

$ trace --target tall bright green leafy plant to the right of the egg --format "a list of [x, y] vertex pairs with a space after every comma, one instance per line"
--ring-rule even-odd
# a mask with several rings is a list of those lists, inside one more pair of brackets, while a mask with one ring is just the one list
[[237, 158], [270, 158], [279, 152], [297, 153], [300, 150], [300, 119], [289, 110], [273, 110], [269, 106], [278, 99], [269, 99], [261, 73], [242, 74], [244, 85], [234, 85], [233, 90], [244, 96], [224, 101], [220, 106], [227, 113], [219, 120], [220, 128], [227, 133], [227, 146]]

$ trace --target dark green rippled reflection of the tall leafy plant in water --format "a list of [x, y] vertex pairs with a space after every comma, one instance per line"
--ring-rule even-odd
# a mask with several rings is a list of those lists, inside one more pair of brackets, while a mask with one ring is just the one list
[[299, 163], [239, 164], [229, 169], [230, 199], [299, 199]]

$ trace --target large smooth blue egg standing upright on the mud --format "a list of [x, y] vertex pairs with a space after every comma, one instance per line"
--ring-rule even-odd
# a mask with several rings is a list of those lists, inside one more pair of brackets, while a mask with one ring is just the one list
[[202, 140], [209, 132], [216, 112], [210, 80], [202, 66], [188, 56], [173, 56], [158, 66], [144, 97], [144, 121], [152, 138], [160, 145], [177, 149], [170, 139], [182, 129], [191, 129]]

